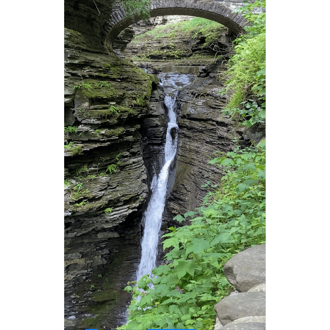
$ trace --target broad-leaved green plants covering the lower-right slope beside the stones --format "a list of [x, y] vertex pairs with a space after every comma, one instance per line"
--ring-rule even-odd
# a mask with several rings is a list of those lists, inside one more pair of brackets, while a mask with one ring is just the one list
[[201, 207], [174, 217], [191, 225], [170, 227], [163, 235], [168, 252], [153, 278], [147, 274], [125, 287], [133, 299], [128, 323], [118, 329], [214, 328], [214, 305], [233, 290], [224, 264], [266, 238], [265, 141], [259, 145], [210, 161], [227, 174], [219, 184], [206, 183], [212, 190]]

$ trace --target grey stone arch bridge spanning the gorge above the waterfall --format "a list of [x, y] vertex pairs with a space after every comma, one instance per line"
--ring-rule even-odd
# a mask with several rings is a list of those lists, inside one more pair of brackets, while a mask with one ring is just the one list
[[[207, 18], [228, 27], [234, 34], [243, 32], [244, 26], [247, 25], [246, 19], [241, 14], [235, 13], [235, 9], [244, 5], [243, 1], [151, 0], [150, 2], [150, 17], [186, 15]], [[113, 41], [123, 29], [141, 20], [140, 16], [135, 16], [134, 19], [126, 16], [121, 6], [114, 5], [112, 17], [107, 22], [109, 31], [105, 39], [105, 47], [109, 51], [112, 51]]]

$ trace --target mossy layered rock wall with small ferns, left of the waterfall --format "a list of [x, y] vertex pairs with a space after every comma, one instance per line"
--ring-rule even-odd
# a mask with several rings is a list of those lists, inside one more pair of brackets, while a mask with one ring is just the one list
[[139, 131], [157, 80], [82, 33], [65, 28], [64, 40], [65, 325], [115, 329], [140, 260], [148, 186]]

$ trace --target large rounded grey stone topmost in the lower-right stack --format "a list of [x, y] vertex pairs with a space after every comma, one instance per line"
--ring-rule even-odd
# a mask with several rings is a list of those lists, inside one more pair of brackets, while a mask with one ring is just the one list
[[226, 262], [223, 272], [239, 292], [247, 292], [258, 284], [266, 283], [266, 244], [237, 253]]

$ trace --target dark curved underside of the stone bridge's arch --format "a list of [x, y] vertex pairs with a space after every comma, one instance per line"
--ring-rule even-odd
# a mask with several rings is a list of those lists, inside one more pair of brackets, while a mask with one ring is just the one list
[[[219, 14], [219, 12], [221, 12], [221, 14]], [[202, 9], [183, 7], [155, 8], [150, 10], [150, 17], [167, 15], [196, 16], [210, 19], [228, 27], [228, 29], [235, 35], [244, 32], [244, 26], [247, 24], [243, 16], [240, 14], [234, 14], [226, 6], [221, 6], [221, 8], [218, 8], [217, 13]], [[109, 30], [104, 43], [108, 51], [112, 52], [112, 44], [118, 34], [126, 27], [138, 22], [139, 20], [141, 20], [139, 16], [136, 16], [135, 19], [126, 17], [113, 25], [113, 27]]]

